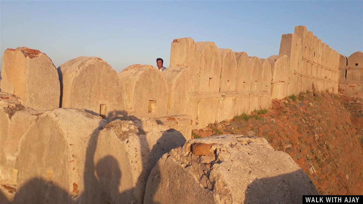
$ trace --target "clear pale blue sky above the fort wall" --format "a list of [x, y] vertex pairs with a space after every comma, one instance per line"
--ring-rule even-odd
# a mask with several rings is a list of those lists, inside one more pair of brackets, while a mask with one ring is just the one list
[[267, 58], [294, 26], [349, 56], [363, 51], [363, 1], [0, 1], [0, 50], [27, 46], [56, 67], [101, 57], [117, 72], [131, 64], [169, 66], [174, 38]]

